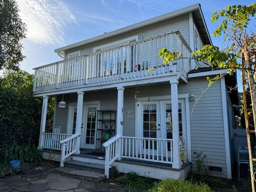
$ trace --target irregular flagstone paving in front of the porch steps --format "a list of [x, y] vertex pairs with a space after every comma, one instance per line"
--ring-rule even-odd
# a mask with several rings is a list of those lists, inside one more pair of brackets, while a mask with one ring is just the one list
[[57, 191], [111, 191], [121, 192], [128, 189], [125, 185], [115, 183], [99, 182], [74, 179], [62, 176], [44, 167], [43, 171], [29, 171], [26, 174], [14, 175], [0, 178], [0, 191], [36, 191], [36, 192], [57, 192]]

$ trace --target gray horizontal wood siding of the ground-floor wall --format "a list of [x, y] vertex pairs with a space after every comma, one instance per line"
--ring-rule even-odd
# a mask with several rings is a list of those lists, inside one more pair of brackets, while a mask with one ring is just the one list
[[[191, 78], [189, 84], [180, 82], [178, 85], [179, 94], [194, 94], [199, 98], [207, 88], [205, 77]], [[138, 98], [170, 95], [169, 83], [158, 85], [140, 86], [126, 88], [124, 91], [124, 127], [123, 135], [135, 136], [135, 99], [134, 93], [139, 89]], [[70, 97], [70, 96], [69, 96]], [[59, 97], [60, 99], [61, 97]], [[68, 98], [68, 97], [67, 97]], [[77, 97], [73, 95], [71, 102], [76, 102]], [[100, 101], [100, 109], [117, 109], [117, 90], [106, 90], [101, 92], [90, 92], [84, 94], [85, 101]], [[68, 101], [70, 102], [70, 101]], [[194, 111], [193, 110], [194, 107]], [[223, 174], [213, 174], [219, 177], [226, 177], [226, 150], [223, 128], [222, 100], [220, 81], [213, 84], [195, 105], [195, 101], [189, 102], [190, 109], [190, 130], [191, 130], [191, 154], [193, 156], [192, 170], [196, 172], [196, 164], [193, 152], [203, 151], [209, 158], [212, 166], [221, 166]], [[127, 111], [133, 110], [133, 118], [127, 118]], [[57, 108], [55, 114], [55, 125], [62, 125], [61, 132], [65, 132], [67, 124], [67, 109]]]

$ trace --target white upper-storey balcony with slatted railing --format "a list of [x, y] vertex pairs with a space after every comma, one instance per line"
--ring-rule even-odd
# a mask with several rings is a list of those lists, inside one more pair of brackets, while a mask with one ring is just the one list
[[[179, 31], [109, 47], [81, 57], [35, 68], [34, 93], [109, 85], [173, 75], [187, 78], [189, 59], [163, 65], [158, 51], [166, 47], [190, 57], [191, 49]], [[149, 68], [154, 70], [149, 71]], [[93, 88], [92, 88], [93, 89]]]

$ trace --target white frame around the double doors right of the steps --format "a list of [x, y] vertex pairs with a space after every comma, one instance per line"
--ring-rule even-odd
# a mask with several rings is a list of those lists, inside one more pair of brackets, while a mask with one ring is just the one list
[[[189, 110], [189, 94], [178, 94], [178, 99], [185, 100], [185, 117], [186, 117], [186, 128], [187, 128], [187, 148], [188, 148], [188, 161], [191, 162], [191, 134], [190, 134], [190, 110]], [[140, 137], [140, 103], [143, 101], [148, 101], [148, 97], [137, 98], [138, 102], [135, 103], [135, 137]], [[150, 101], [171, 101], [171, 95], [161, 95], [150, 97]]]

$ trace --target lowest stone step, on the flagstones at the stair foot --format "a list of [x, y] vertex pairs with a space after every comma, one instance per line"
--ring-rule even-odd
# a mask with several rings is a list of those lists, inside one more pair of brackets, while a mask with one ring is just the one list
[[100, 182], [106, 179], [105, 174], [93, 172], [93, 171], [75, 169], [73, 167], [58, 167], [58, 168], [55, 168], [55, 171], [66, 177], [86, 180], [91, 182]]

